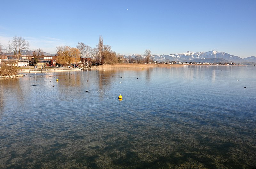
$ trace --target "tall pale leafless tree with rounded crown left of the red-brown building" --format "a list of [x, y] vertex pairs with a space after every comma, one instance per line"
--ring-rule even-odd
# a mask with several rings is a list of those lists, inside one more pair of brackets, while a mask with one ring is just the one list
[[14, 69], [15, 65], [18, 63], [18, 60], [24, 50], [28, 50], [29, 43], [24, 38], [20, 36], [14, 36], [12, 42], [9, 41], [8, 45], [6, 46], [6, 49], [8, 52], [13, 52], [13, 55], [16, 57], [15, 64], [12, 67], [12, 70]]

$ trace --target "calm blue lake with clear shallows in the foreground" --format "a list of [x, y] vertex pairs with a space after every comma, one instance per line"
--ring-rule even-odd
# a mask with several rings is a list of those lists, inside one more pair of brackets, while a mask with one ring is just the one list
[[253, 66], [2, 78], [0, 168], [255, 168], [255, 115]]

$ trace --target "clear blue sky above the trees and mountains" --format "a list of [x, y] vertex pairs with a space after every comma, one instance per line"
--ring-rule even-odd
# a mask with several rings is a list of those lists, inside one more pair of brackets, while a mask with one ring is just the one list
[[219, 51], [256, 56], [256, 0], [13, 0], [1, 2], [0, 43], [30, 50], [103, 44], [131, 55]]

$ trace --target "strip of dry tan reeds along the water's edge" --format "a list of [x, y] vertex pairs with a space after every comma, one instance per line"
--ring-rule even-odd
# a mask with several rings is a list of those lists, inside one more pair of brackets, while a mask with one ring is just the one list
[[170, 67], [170, 66], [184, 66], [184, 65], [170, 65], [170, 64], [111, 64], [100, 65], [92, 67], [93, 69], [119, 69], [119, 68], [148, 68], [148, 67]]

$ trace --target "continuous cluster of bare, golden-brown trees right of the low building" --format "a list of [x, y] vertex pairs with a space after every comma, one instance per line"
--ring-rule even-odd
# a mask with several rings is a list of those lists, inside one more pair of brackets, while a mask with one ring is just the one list
[[131, 55], [128, 57], [128, 59], [124, 58], [123, 55], [112, 51], [111, 46], [104, 45], [101, 35], [99, 38], [99, 43], [94, 48], [84, 44], [83, 42], [78, 42], [76, 48], [72, 48], [70, 46], [58, 46], [56, 50], [56, 64], [60, 64], [62, 66], [70, 65], [71, 62], [80, 63], [82, 67], [116, 63], [153, 62], [153, 60], [150, 58], [151, 51], [149, 49], [145, 50], [144, 57], [140, 54], [136, 54], [134, 58], [132, 58]]

